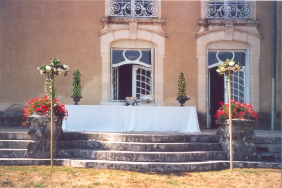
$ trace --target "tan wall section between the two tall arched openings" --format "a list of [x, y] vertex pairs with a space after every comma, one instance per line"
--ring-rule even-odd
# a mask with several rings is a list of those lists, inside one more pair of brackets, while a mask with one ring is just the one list
[[199, 29], [200, 1], [163, 1], [162, 18], [166, 39], [164, 61], [164, 99], [166, 105], [178, 105], [177, 81], [180, 71], [187, 81], [187, 95], [191, 98], [187, 106], [197, 106], [198, 65], [196, 60], [195, 35]]

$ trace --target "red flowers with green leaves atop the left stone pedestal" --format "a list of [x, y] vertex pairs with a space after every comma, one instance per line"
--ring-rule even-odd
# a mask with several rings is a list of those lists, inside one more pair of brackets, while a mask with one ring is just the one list
[[[64, 104], [58, 102], [57, 99], [53, 99], [54, 101], [54, 115], [60, 118], [68, 117], [68, 110], [65, 108]], [[37, 97], [35, 99], [31, 99], [27, 105], [25, 105], [24, 111], [24, 122], [22, 123], [23, 127], [26, 127], [28, 123], [28, 117], [33, 115], [34, 112], [41, 112], [42, 115], [50, 116], [51, 112], [51, 100], [49, 96]], [[67, 118], [66, 118], [67, 119]]]

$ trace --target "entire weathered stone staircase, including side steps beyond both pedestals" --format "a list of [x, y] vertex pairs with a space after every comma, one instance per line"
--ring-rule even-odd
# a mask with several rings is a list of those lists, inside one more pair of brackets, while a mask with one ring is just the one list
[[[27, 158], [27, 133], [0, 132], [0, 139], [0, 165], [50, 165], [50, 159]], [[270, 145], [257, 139], [256, 145], [267, 144], [268, 152], [278, 155], [281, 141], [274, 140]], [[214, 134], [63, 133], [57, 155], [55, 165], [72, 167], [158, 172], [229, 168], [227, 153]], [[234, 166], [278, 168], [278, 162], [234, 161]]]

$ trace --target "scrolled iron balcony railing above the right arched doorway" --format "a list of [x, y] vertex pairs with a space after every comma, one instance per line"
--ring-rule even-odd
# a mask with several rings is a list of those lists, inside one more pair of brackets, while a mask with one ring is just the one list
[[252, 17], [251, 1], [206, 1], [206, 18], [244, 20]]

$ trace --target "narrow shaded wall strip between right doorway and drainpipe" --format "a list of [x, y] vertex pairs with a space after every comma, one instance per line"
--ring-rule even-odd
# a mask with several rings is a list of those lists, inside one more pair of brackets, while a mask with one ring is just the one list
[[257, 1], [258, 31], [261, 33], [259, 60], [260, 112], [270, 112], [271, 106], [271, 2]]

